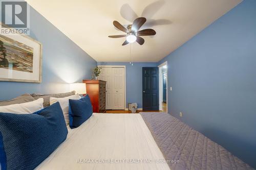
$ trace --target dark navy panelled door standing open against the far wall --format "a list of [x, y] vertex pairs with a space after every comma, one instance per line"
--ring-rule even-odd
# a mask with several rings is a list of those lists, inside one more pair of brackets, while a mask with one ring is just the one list
[[158, 67], [142, 67], [143, 110], [159, 110]]

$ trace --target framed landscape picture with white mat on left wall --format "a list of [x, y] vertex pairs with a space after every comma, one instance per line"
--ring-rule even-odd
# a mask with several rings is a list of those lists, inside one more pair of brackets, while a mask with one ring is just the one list
[[0, 34], [0, 81], [41, 83], [41, 65], [40, 42], [27, 35]]

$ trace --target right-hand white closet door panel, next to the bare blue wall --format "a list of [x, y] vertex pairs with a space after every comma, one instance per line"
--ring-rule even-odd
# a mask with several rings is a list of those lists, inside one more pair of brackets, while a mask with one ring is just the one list
[[112, 69], [112, 109], [124, 109], [124, 68]]

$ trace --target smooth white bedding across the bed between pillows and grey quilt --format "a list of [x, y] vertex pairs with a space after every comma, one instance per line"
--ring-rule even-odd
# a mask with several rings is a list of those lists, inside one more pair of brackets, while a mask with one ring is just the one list
[[169, 169], [163, 159], [140, 114], [94, 113], [36, 169]]

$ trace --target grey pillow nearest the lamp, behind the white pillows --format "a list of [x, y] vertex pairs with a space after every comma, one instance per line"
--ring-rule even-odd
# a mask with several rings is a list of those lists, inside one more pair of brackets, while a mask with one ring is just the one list
[[39, 98], [44, 99], [44, 103], [42, 104], [44, 107], [50, 106], [50, 98], [66, 98], [67, 96], [75, 95], [75, 91], [67, 92], [67, 93], [57, 93], [57, 94], [37, 94], [33, 93], [31, 96], [37, 100]]

